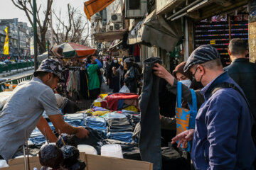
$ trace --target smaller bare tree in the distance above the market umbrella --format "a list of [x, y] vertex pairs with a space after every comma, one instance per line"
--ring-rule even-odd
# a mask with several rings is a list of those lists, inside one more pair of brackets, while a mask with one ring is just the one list
[[53, 11], [53, 14], [58, 22], [56, 22], [55, 29], [53, 29], [53, 34], [55, 42], [61, 44], [63, 42], [75, 42], [82, 44], [82, 34], [85, 31], [85, 26], [87, 23], [84, 23], [82, 19], [82, 14], [80, 14], [77, 8], [67, 5], [68, 7], [68, 22], [65, 23], [63, 18], [61, 18], [61, 10], [58, 15]]

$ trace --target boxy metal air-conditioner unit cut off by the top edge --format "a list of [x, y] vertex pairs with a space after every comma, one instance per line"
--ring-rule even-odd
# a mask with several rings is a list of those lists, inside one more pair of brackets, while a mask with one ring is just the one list
[[147, 1], [145, 0], [125, 0], [125, 18], [142, 18], [147, 13]]

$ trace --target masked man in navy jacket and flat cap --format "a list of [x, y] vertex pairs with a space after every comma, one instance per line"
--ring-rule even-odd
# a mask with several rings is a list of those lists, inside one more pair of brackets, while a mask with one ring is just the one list
[[[174, 137], [178, 146], [193, 139], [191, 159], [195, 169], [253, 169], [256, 157], [252, 141], [252, 118], [250, 108], [238, 84], [223, 72], [218, 51], [210, 45], [202, 45], [188, 58], [184, 71], [192, 72], [206, 101], [196, 116], [195, 129], [187, 130]], [[156, 64], [156, 75], [170, 84], [172, 77], [165, 77], [164, 67]], [[233, 88], [212, 91], [219, 84], [234, 84]]]

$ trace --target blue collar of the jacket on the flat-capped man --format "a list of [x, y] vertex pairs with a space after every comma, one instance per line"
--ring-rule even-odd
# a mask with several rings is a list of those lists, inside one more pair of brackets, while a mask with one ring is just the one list
[[224, 82], [228, 78], [229, 78], [228, 72], [223, 72], [218, 77], [216, 77], [213, 81], [207, 84], [203, 89], [201, 89], [201, 94], [203, 94], [203, 96], [205, 97], [205, 100], [208, 100], [208, 97], [210, 96], [210, 92], [215, 86]]

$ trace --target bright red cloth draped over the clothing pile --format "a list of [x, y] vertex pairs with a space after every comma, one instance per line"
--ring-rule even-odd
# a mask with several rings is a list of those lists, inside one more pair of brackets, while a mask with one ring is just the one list
[[111, 94], [105, 98], [107, 101], [108, 108], [112, 111], [117, 111], [118, 101], [119, 100], [127, 100], [127, 99], [138, 99], [139, 95], [137, 94]]

